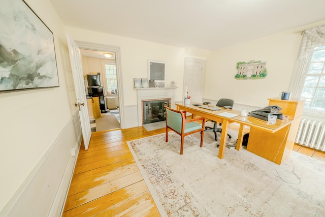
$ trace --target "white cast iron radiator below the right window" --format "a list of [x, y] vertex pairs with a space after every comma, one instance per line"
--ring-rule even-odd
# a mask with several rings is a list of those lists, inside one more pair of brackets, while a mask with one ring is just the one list
[[321, 121], [302, 119], [300, 122], [297, 144], [325, 151], [325, 125]]

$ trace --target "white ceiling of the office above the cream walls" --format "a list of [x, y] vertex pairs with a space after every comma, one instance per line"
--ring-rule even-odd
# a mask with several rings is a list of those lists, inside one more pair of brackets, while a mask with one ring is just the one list
[[214, 50], [325, 21], [325, 0], [50, 0], [67, 26]]

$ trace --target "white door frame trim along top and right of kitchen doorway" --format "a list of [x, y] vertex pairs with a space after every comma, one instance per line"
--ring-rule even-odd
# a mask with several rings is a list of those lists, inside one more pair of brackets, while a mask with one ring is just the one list
[[121, 129], [124, 129], [125, 118], [124, 118], [124, 92], [122, 88], [122, 68], [121, 68], [121, 49], [117, 46], [96, 44], [91, 42], [76, 41], [80, 49], [85, 50], [96, 50], [96, 51], [111, 51], [115, 52], [115, 64], [116, 64], [116, 76], [117, 76], [117, 90], [119, 92], [119, 113], [120, 113], [120, 124]]

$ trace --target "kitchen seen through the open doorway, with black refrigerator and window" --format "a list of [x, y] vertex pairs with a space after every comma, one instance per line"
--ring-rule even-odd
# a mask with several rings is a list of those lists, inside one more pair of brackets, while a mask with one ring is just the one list
[[[80, 53], [87, 101], [90, 101], [88, 103], [88, 111], [91, 131], [120, 129], [120, 92], [115, 58], [116, 53], [109, 50], [98, 51], [82, 48], [80, 49]], [[89, 82], [91, 81], [89, 81], [89, 77], [99, 77], [100, 82], [96, 82], [96, 86], [90, 86]], [[97, 91], [98, 89], [101, 91]], [[99, 108], [96, 105], [98, 103], [100, 104]], [[90, 107], [92, 107], [92, 111]]]

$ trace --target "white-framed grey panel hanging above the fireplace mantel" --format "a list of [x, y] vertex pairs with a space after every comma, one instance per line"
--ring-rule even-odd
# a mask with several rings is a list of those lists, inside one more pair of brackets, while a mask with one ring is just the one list
[[166, 62], [148, 60], [148, 78], [156, 82], [166, 81]]

